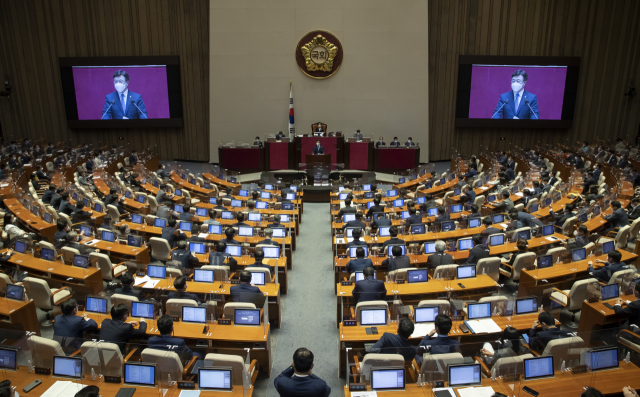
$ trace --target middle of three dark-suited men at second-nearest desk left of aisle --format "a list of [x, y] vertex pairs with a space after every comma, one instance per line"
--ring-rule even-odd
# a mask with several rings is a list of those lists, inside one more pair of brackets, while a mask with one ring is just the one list
[[[111, 318], [102, 320], [100, 328], [100, 340], [116, 343], [120, 347], [122, 355], [127, 354], [125, 349], [129, 339], [144, 338], [147, 332], [147, 323], [144, 318], [138, 321], [127, 321], [129, 309], [124, 303], [111, 307]], [[137, 327], [140, 324], [138, 329]]]

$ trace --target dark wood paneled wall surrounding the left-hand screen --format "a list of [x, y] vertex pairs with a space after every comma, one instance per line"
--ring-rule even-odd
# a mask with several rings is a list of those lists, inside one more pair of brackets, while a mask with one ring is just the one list
[[[12, 86], [0, 98], [5, 140], [157, 145], [163, 160], [209, 160], [207, 0], [3, 0], [0, 54], [0, 81]], [[183, 128], [67, 128], [59, 57], [144, 55], [180, 56]]]

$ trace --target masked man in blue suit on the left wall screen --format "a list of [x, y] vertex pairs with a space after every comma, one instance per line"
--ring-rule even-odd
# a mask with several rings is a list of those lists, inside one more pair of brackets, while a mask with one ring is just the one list
[[129, 74], [118, 70], [113, 74], [115, 91], [107, 94], [102, 109], [102, 120], [148, 119], [142, 96], [129, 91]]

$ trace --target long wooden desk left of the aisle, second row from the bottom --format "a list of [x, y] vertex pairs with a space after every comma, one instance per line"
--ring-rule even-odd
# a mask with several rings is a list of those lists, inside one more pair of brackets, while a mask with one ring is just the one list
[[[78, 312], [81, 316], [86, 313], [90, 318], [102, 326], [102, 321], [111, 318], [109, 315]], [[132, 320], [137, 320], [131, 318]], [[185, 339], [187, 345], [194, 348], [198, 341], [209, 343], [207, 351], [217, 349], [250, 349], [251, 358], [258, 360], [260, 370], [271, 376], [271, 325], [262, 321], [259, 326], [222, 325], [218, 322], [207, 324], [207, 332], [203, 332], [202, 324], [174, 321], [173, 337]], [[160, 336], [157, 320], [147, 320], [146, 336]]]

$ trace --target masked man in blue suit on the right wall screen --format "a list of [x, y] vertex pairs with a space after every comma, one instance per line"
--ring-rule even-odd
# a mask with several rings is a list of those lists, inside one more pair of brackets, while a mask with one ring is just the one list
[[527, 73], [518, 69], [511, 75], [511, 91], [500, 95], [498, 105], [493, 111], [492, 119], [533, 119], [540, 118], [538, 98], [524, 90], [527, 84]]

